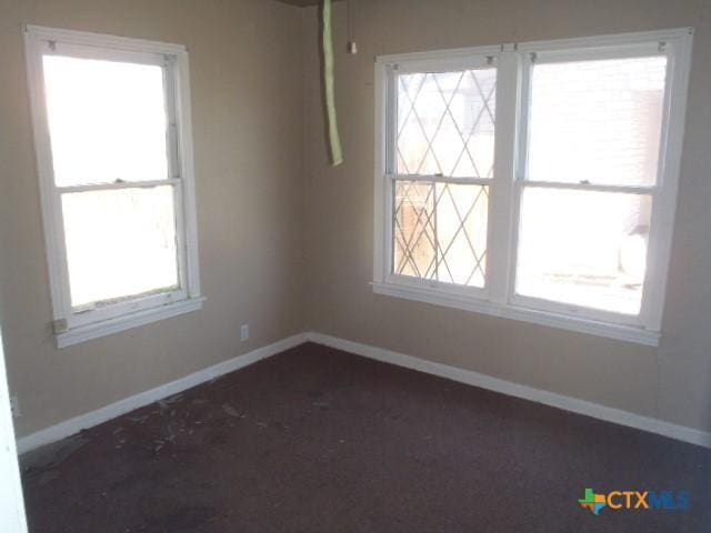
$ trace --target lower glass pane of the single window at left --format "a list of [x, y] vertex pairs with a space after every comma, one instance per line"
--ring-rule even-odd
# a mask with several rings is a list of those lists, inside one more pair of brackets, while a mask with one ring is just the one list
[[177, 289], [172, 185], [62, 194], [73, 308]]

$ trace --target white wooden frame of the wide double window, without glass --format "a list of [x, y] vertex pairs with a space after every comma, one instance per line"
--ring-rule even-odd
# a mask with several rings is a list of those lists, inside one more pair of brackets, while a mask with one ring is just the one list
[[[497, 47], [380, 56], [375, 59], [375, 168], [373, 291], [611, 339], [659, 345], [677, 207], [693, 29], [624, 33]], [[648, 268], [639, 316], [597, 311], [515, 293], [521, 191], [527, 178], [531, 62], [665, 54], [667, 90], [657, 183], [652, 187], [589, 185], [589, 190], [652, 194]], [[497, 67], [494, 173], [491, 180], [485, 285], [475, 289], [398, 275], [393, 253], [393, 121], [397, 72], [457, 70], [493, 58]], [[462, 67], [463, 66], [463, 67]], [[404, 177], [403, 177], [404, 178]], [[472, 182], [472, 183], [475, 183]], [[561, 187], [525, 182], [525, 187]], [[564, 184], [562, 187], [569, 187]], [[571, 188], [573, 185], [570, 185]], [[578, 188], [578, 185], [574, 185]]]

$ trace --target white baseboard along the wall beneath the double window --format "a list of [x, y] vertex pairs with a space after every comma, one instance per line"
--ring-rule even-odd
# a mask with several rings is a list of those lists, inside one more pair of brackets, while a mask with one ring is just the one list
[[524, 400], [542, 403], [564, 411], [592, 416], [593, 419], [657, 433], [659, 435], [669, 436], [691, 444], [711, 447], [711, 433], [694, 430], [692, 428], [672, 424], [670, 422], [642, 416], [640, 414], [630, 413], [619, 409], [607, 408], [584, 400], [500, 380], [490, 375], [472, 372], [470, 370], [434, 363], [423, 359], [413, 358], [411, 355], [405, 355], [403, 353], [371, 346], [369, 344], [361, 344], [359, 342], [347, 341], [344, 339], [322, 333], [309, 332], [307, 333], [307, 339], [311, 342], [316, 342], [317, 344], [336, 348], [344, 352], [354, 353], [356, 355], [362, 355], [364, 358], [395, 364], [398, 366], [404, 366], [407, 369], [425, 372], [440, 378], [447, 378], [449, 380], [480, 386], [482, 389], [500, 392], [510, 396], [522, 398]]

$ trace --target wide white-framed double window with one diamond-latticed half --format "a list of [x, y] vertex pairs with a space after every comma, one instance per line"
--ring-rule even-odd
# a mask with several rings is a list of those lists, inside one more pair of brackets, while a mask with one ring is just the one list
[[374, 291], [657, 344], [690, 46], [378, 58]]

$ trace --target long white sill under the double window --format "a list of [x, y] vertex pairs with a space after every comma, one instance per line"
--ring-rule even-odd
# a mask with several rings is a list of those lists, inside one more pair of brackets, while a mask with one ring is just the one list
[[619, 341], [634, 342], [647, 346], [659, 346], [660, 332], [643, 330], [630, 325], [618, 325], [595, 320], [565, 316], [562, 314], [521, 308], [511, 304], [499, 304], [471, 296], [444, 293], [428, 288], [415, 288], [398, 283], [373, 282], [373, 292], [388, 296], [403, 298], [417, 302], [444, 305], [448, 308], [474, 311], [477, 313], [520, 320], [532, 324], [559, 328], [562, 330], [588, 333]]

